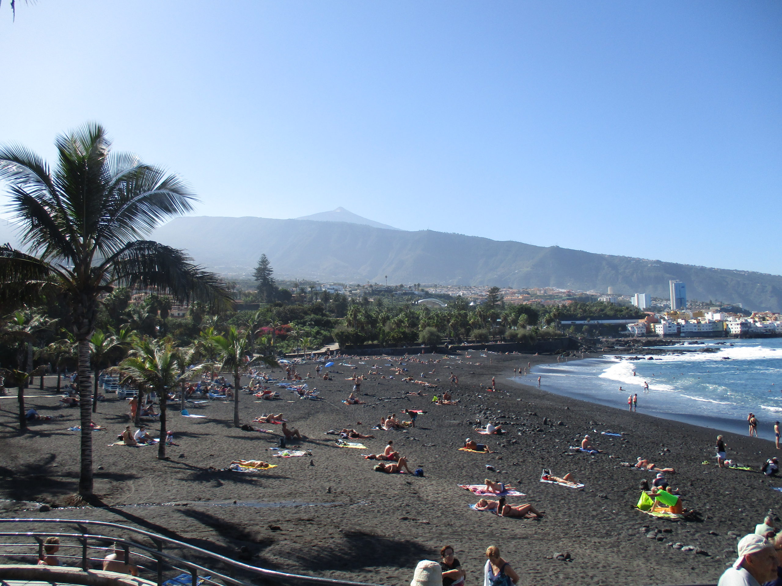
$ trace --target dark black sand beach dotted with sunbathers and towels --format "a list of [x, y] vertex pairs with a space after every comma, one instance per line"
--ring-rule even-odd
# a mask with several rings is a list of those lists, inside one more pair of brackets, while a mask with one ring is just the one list
[[[95, 492], [105, 507], [39, 513], [9, 505], [2, 515], [126, 523], [226, 556], [237, 557], [244, 547], [252, 556], [250, 563], [258, 566], [375, 584], [408, 584], [419, 560], [439, 560], [439, 548], [453, 545], [467, 570], [468, 586], [479, 586], [483, 552], [488, 545], [498, 545], [521, 577], [520, 584], [640, 585], [716, 582], [726, 562], [734, 559], [736, 539], [727, 532], [752, 532], [769, 509], [779, 509], [782, 494], [771, 487], [782, 482], [769, 481], [757, 471], [716, 467], [716, 431], [580, 402], [508, 380], [514, 368], [551, 362], [554, 356], [470, 355], [469, 361], [463, 352], [416, 357], [428, 359], [426, 365], [406, 361], [415, 378], [426, 373], [427, 381], [441, 381], [437, 391], [423, 390], [423, 397], [401, 398], [404, 391], [421, 385], [404, 383], [398, 376], [389, 380], [368, 375], [361, 386], [368, 396], [361, 398], [369, 404], [344, 404], [350, 392], [346, 377], [368, 373], [375, 363], [389, 363], [371, 356], [350, 359], [351, 364], [366, 363], [360, 370], [339, 366], [339, 360], [329, 369], [337, 371], [333, 381], [309, 381], [321, 391], [322, 401], [300, 400], [284, 389], [278, 389], [282, 398], [274, 402], [241, 396], [242, 423], [261, 413], [284, 413], [289, 425], [307, 436], [298, 445], [311, 450], [311, 458], [272, 458], [268, 448], [276, 445], [279, 426], [255, 424], [275, 428], [271, 434], [236, 429], [232, 406], [224, 402], [192, 409], [206, 419], [170, 411], [169, 427], [180, 446], [169, 448], [168, 461], [156, 459], [154, 447], [109, 447], [129, 423], [126, 402], [109, 398], [99, 404], [95, 416], [95, 422], [108, 429], [94, 432]], [[436, 359], [440, 362], [432, 363]], [[378, 372], [388, 370], [383, 366]], [[299, 367], [302, 374], [308, 371], [314, 374], [314, 365]], [[432, 392], [448, 388], [452, 372], [460, 381], [453, 391], [459, 404], [432, 405]], [[479, 385], [490, 385], [492, 377], [498, 391], [481, 390]], [[528, 380], [534, 385], [536, 377]], [[31, 388], [29, 395], [49, 393]], [[77, 488], [78, 434], [66, 431], [78, 424], [77, 409], [59, 408], [57, 399], [48, 396], [28, 403], [41, 414], [64, 417], [34, 422], [29, 433], [20, 435], [16, 400], [2, 399], [0, 498], [62, 504]], [[371, 431], [381, 416], [402, 416], [401, 409], [427, 413], [418, 417], [414, 429]], [[511, 433], [476, 435], [468, 422], [479, 417], [485, 423], [488, 414], [508, 422]], [[544, 424], [544, 418], [551, 424]], [[339, 448], [335, 436], [324, 432], [342, 427], [375, 434], [375, 439], [353, 440], [362, 441], [366, 450]], [[569, 451], [586, 433], [604, 453]], [[729, 457], [755, 470], [777, 452], [769, 441], [724, 435]], [[486, 440], [483, 443], [497, 453], [458, 451], [467, 437]], [[382, 452], [389, 439], [412, 468], [423, 468], [425, 477], [372, 470], [375, 463], [361, 454]], [[698, 512], [695, 520], [673, 523], [633, 509], [639, 481], [655, 477], [620, 465], [635, 463], [637, 456], [676, 469], [669, 480], [681, 489], [684, 506]], [[224, 468], [232, 459], [264, 459], [278, 466], [257, 475], [209, 470]], [[708, 466], [702, 464], [705, 460]], [[487, 464], [498, 472], [487, 471]], [[571, 472], [586, 486], [574, 490], [541, 483], [543, 467], [560, 476]], [[479, 484], [486, 477], [526, 493], [509, 502], [532, 503], [546, 515], [519, 520], [468, 509], [478, 497], [457, 484]], [[246, 506], [257, 502], [278, 506]], [[271, 531], [270, 525], [282, 531]], [[664, 531], [663, 541], [647, 538], [655, 528]], [[705, 554], [666, 545], [677, 541]], [[551, 559], [555, 552], [569, 552], [573, 561]]]

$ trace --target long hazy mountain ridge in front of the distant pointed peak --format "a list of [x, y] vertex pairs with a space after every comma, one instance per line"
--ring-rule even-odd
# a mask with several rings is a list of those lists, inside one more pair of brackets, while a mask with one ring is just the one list
[[660, 260], [544, 248], [514, 241], [408, 232], [356, 223], [267, 218], [182, 217], [152, 237], [185, 248], [219, 273], [252, 273], [266, 253], [278, 277], [384, 283], [560, 287], [667, 297], [683, 280], [689, 298], [782, 310], [782, 277]]

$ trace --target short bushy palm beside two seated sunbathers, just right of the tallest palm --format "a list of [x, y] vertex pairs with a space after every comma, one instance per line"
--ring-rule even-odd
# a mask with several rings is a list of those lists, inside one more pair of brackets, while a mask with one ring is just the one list
[[[137, 341], [128, 356], [120, 363], [125, 380], [138, 385], [139, 394], [156, 393], [160, 396], [160, 441], [157, 445], [158, 459], [166, 459], [166, 413], [168, 393], [185, 376], [187, 364], [185, 356], [180, 356], [181, 348], [174, 348], [170, 338], [150, 341], [148, 338]], [[186, 361], [186, 359], [185, 359]], [[188, 370], [188, 376], [195, 376], [199, 369]], [[138, 412], [141, 412], [139, 403]]]

